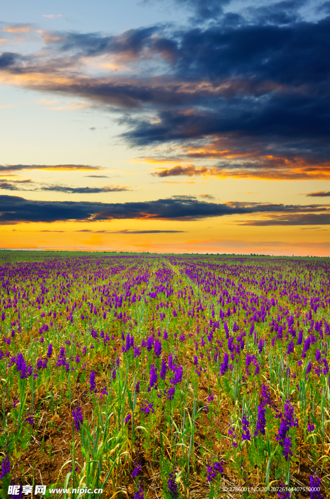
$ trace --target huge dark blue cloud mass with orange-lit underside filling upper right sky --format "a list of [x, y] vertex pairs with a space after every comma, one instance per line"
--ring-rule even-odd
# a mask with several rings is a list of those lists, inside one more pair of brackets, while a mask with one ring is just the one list
[[[212, 165], [195, 165], [197, 175], [329, 178], [327, 2], [318, 20], [304, 18], [297, 0], [239, 13], [228, 1], [177, 4], [194, 15], [186, 26], [43, 33], [41, 51], [0, 55], [0, 78], [122, 113], [128, 145], [171, 148], [178, 166], [164, 176], [190, 175], [191, 162], [205, 159]], [[101, 59], [108, 75], [95, 71]]]

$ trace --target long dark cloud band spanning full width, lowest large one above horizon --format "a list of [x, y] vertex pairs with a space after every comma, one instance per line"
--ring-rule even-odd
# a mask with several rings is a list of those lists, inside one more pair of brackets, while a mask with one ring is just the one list
[[[282, 205], [261, 203], [206, 203], [194, 197], [130, 203], [93, 203], [74, 201], [31, 201], [16, 196], [0, 196], [0, 224], [19, 222], [101, 221], [112, 219], [198, 220], [225, 215], [262, 213], [293, 214], [325, 212], [329, 205]], [[297, 219], [298, 220], [298, 219]], [[313, 222], [316, 225], [317, 222]]]

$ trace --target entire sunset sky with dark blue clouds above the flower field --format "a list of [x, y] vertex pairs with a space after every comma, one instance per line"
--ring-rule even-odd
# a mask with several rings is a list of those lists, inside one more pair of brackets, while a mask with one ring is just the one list
[[330, 1], [8, 0], [0, 248], [330, 256]]

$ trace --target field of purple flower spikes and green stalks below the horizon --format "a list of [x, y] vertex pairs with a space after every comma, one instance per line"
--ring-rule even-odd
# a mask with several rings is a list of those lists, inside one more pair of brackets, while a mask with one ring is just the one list
[[2, 251], [0, 286], [2, 498], [329, 497], [328, 258]]

